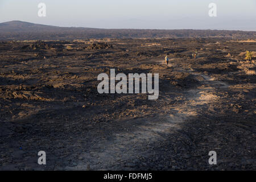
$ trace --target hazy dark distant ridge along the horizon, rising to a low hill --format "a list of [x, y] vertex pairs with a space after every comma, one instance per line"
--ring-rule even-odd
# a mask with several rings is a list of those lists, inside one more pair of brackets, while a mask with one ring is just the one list
[[22, 21], [0, 23], [0, 40], [73, 40], [88, 38], [255, 38], [256, 31], [151, 30], [57, 27]]

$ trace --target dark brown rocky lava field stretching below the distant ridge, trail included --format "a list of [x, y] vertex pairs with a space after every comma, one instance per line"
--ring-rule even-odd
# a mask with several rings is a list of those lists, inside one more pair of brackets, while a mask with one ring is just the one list
[[[246, 50], [255, 40], [1, 42], [0, 169], [255, 170], [256, 58]], [[99, 94], [110, 68], [159, 73], [158, 100]]]

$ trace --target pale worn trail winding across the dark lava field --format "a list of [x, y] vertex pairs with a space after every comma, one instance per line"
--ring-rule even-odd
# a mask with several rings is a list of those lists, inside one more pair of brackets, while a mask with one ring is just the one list
[[[158, 60], [158, 63], [165, 64], [164, 60]], [[187, 71], [176, 65], [172, 67], [175, 70], [203, 77], [204, 80], [199, 81], [207, 86], [185, 90], [183, 92], [186, 98], [185, 103], [172, 107], [170, 113], [164, 118], [137, 118], [120, 121], [121, 126], [115, 127], [122, 127], [125, 131], [113, 134], [110, 140], [96, 140], [94, 146], [82, 155], [83, 160], [77, 166], [66, 169], [86, 170], [87, 164], [95, 170], [134, 169], [138, 158], [150, 155], [155, 142], [163, 140], [172, 132], [172, 129], [179, 129], [179, 123], [196, 116], [199, 109], [204, 109], [205, 104], [218, 100], [219, 96], [212, 93], [213, 91], [228, 87], [225, 82], [216, 81], [207, 75]], [[164, 99], [170, 100], [168, 97]], [[111, 127], [106, 126], [104, 130], [111, 130]]]

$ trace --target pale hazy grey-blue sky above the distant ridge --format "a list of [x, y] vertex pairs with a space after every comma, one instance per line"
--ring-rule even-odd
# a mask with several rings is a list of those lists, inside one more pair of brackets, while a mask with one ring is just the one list
[[[46, 4], [46, 17], [38, 4]], [[217, 17], [210, 17], [216, 3]], [[256, 0], [0, 0], [0, 22], [65, 27], [256, 31]]]

